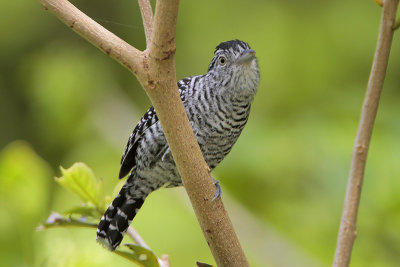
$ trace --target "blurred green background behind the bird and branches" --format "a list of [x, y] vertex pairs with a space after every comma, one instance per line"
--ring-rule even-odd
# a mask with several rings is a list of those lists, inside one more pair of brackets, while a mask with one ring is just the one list
[[[145, 47], [137, 1], [71, 2]], [[112, 193], [147, 96], [38, 1], [1, 1], [0, 10], [0, 265], [132, 266], [97, 245], [94, 230], [34, 229], [79, 203], [55, 184], [60, 165], [87, 163]], [[372, 0], [181, 1], [178, 79], [205, 73], [222, 41], [257, 51], [261, 83], [248, 125], [213, 172], [252, 266], [331, 265], [380, 13]], [[351, 266], [400, 263], [399, 34]], [[182, 188], [152, 194], [133, 226], [172, 266], [213, 262]]]

